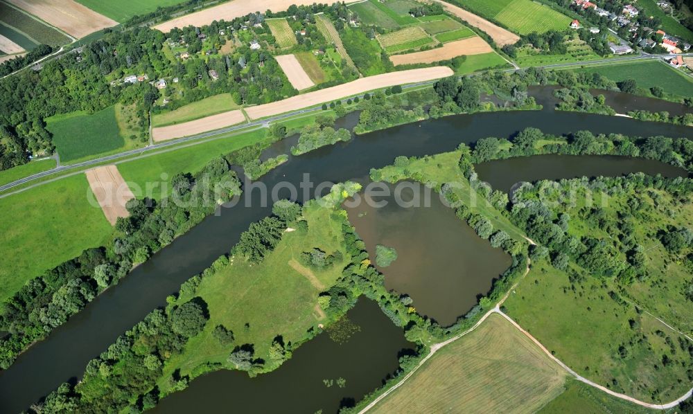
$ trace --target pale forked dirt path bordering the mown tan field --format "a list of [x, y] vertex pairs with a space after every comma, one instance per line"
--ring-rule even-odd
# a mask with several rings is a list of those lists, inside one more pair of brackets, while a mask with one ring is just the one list
[[[525, 237], [525, 238], [526, 238], [529, 242], [531, 242], [532, 244], [534, 244], [534, 242], [532, 242], [532, 240], [530, 240], [530, 239], [527, 238], [527, 237]], [[414, 372], [416, 372], [417, 370], [419, 370], [419, 368], [421, 368], [421, 366], [423, 366], [423, 364], [426, 363], [426, 361], [428, 361], [428, 359], [430, 359], [430, 357], [432, 357], [433, 354], [435, 354], [438, 350], [440, 350], [441, 348], [443, 348], [445, 345], [448, 345], [449, 343], [452, 343], [452, 342], [454, 342], [454, 341], [457, 341], [457, 339], [460, 339], [460, 338], [462, 338], [462, 336], [465, 336], [465, 335], [468, 334], [469, 332], [472, 332], [473, 330], [477, 329], [477, 327], [479, 327], [484, 321], [486, 321], [486, 318], [488, 318], [491, 314], [499, 314], [499, 315], [502, 316], [503, 318], [507, 319], [507, 321], [509, 321], [514, 327], [516, 327], [517, 330], [519, 330], [519, 331], [522, 332], [525, 336], [527, 336], [527, 338], [528, 338], [529, 340], [531, 340], [532, 342], [534, 342], [545, 354], [547, 354], [548, 357], [550, 357], [554, 362], [558, 363], [559, 366], [561, 366], [561, 368], [563, 368], [564, 370], [566, 370], [566, 371], [567, 371], [570, 375], [572, 375], [575, 379], [577, 379], [578, 381], [583, 382], [584, 384], [587, 384], [587, 385], [589, 385], [589, 386], [593, 386], [593, 387], [595, 387], [595, 388], [597, 388], [597, 389], [599, 389], [599, 390], [602, 390], [602, 391], [604, 391], [604, 393], [607, 393], [607, 394], [609, 394], [609, 395], [612, 395], [613, 397], [617, 397], [617, 398], [620, 398], [620, 399], [624, 399], [624, 400], [626, 400], [626, 401], [632, 402], [633, 404], [638, 404], [639, 406], [643, 406], [643, 407], [647, 407], [647, 408], [652, 408], [652, 409], [656, 409], [656, 410], [666, 410], [666, 409], [669, 409], [669, 408], [673, 408], [673, 407], [675, 407], [675, 406], [678, 406], [678, 404], [679, 404], [680, 402], [684, 401], [685, 399], [690, 398], [690, 397], [693, 395], [693, 388], [691, 388], [687, 393], [685, 393], [685, 394], [682, 395], [681, 397], [678, 397], [677, 399], [675, 399], [675, 400], [672, 401], [672, 402], [667, 402], [666, 404], [651, 404], [651, 403], [649, 403], [649, 402], [643, 402], [643, 401], [640, 401], [639, 399], [635, 399], [635, 398], [633, 398], [633, 397], [630, 397], [629, 395], [625, 395], [625, 394], [621, 394], [621, 393], [616, 393], [615, 391], [612, 391], [612, 390], [610, 390], [610, 389], [608, 389], [608, 388], [606, 388], [606, 387], [604, 387], [604, 386], [601, 386], [601, 385], [595, 383], [594, 381], [590, 381], [589, 379], [586, 379], [585, 377], [582, 377], [582, 376], [579, 375], [577, 372], [575, 372], [574, 370], [572, 370], [570, 367], [568, 367], [567, 365], [565, 365], [565, 363], [563, 363], [560, 359], [554, 357], [554, 355], [553, 355], [549, 350], [547, 350], [546, 347], [545, 347], [544, 345], [541, 344], [541, 342], [539, 342], [536, 338], [534, 338], [534, 336], [532, 336], [531, 334], [529, 334], [529, 332], [527, 332], [526, 330], [524, 330], [523, 327], [521, 327], [518, 323], [516, 323], [510, 316], [507, 316], [507, 314], [503, 313], [503, 312], [500, 310], [500, 306], [505, 302], [505, 300], [508, 298], [508, 296], [510, 296], [511, 292], [514, 291], [514, 289], [517, 287], [518, 283], [520, 283], [520, 281], [523, 280], [523, 278], [525, 278], [525, 276], [527, 276], [527, 273], [529, 273], [529, 265], [530, 265], [530, 264], [531, 264], [531, 261], [529, 260], [529, 258], [527, 258], [527, 269], [525, 269], [525, 273], [523, 274], [523, 276], [521, 276], [521, 277], [514, 283], [514, 285], [512, 285], [512, 287], [511, 287], [510, 289], [508, 289], [508, 291], [506, 292], [505, 296], [503, 296], [503, 297], [501, 298], [501, 300], [498, 301], [498, 304], [496, 304], [495, 307], [494, 307], [493, 309], [489, 310], [489, 312], [486, 312], [486, 314], [484, 314], [484, 316], [482, 316], [482, 318], [481, 318], [477, 323], [475, 323], [473, 327], [469, 328], [468, 330], [466, 330], [466, 331], [464, 331], [464, 332], [462, 332], [462, 333], [460, 333], [460, 334], [457, 334], [456, 336], [453, 336], [452, 338], [448, 339], [447, 341], [444, 341], [444, 342], [441, 342], [441, 343], [435, 343], [435, 344], [431, 345], [431, 347], [430, 347], [430, 352], [428, 353], [428, 355], [426, 355], [426, 357], [424, 357], [424, 358], [421, 360], [421, 362], [419, 362], [418, 365], [416, 365], [416, 368], [414, 368], [413, 370], [411, 370], [407, 375], [405, 375], [405, 377], [404, 377], [403, 379], [401, 379], [401, 381], [399, 381], [397, 384], [395, 384], [394, 386], [392, 386], [392, 388], [389, 388], [389, 390], [385, 391], [385, 393], [379, 395], [379, 396], [378, 396], [376, 399], [374, 399], [370, 404], [368, 404], [367, 406], [365, 406], [365, 408], [363, 408], [363, 409], [359, 412], [359, 414], [363, 414], [363, 413], [365, 413], [366, 411], [369, 411], [369, 410], [370, 410], [371, 408], [373, 408], [374, 406], [376, 406], [376, 404], [378, 404], [378, 402], [380, 402], [382, 399], [384, 399], [385, 397], [387, 397], [387, 395], [389, 395], [390, 393], [392, 393], [392, 391], [394, 391], [394, 390], [396, 390], [397, 388], [399, 388], [402, 384], [404, 384], [405, 381], [407, 381], [407, 379], [409, 379], [412, 375], [414, 375]]]

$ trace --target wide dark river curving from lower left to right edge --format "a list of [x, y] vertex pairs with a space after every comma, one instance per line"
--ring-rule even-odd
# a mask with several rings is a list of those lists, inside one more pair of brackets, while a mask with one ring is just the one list
[[[269, 188], [282, 182], [298, 185], [304, 174], [320, 181], [345, 181], [364, 177], [370, 168], [392, 163], [395, 156], [422, 156], [453, 150], [485, 136], [510, 138], [525, 127], [563, 134], [579, 129], [594, 133], [693, 137], [693, 128], [648, 123], [628, 118], [552, 111], [495, 112], [460, 115], [403, 125], [360, 136], [350, 143], [324, 147], [292, 157], [261, 178]], [[593, 174], [599, 174], [598, 171]], [[290, 192], [282, 190], [282, 197]], [[297, 195], [298, 201], [315, 196], [315, 188]], [[251, 201], [252, 208], [245, 208]], [[186, 235], [141, 264], [127, 278], [91, 302], [48, 339], [22, 354], [10, 369], [0, 372], [0, 411], [26, 409], [62, 382], [82, 375], [87, 362], [116, 338], [141, 321], [166, 296], [227, 253], [250, 223], [269, 215], [271, 204], [261, 204], [259, 190], [247, 190], [238, 206], [220, 208]]]

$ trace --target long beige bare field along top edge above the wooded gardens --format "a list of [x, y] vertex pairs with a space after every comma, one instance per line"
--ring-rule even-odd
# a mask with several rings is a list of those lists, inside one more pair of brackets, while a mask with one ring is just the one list
[[[345, 3], [353, 3], [354, 1], [360, 0], [346, 0]], [[205, 24], [210, 24], [213, 20], [224, 19], [226, 21], [231, 21], [236, 19], [236, 17], [245, 16], [249, 13], [264, 13], [265, 10], [283, 12], [292, 4], [296, 6], [310, 6], [313, 3], [315, 3], [315, 0], [234, 0], [189, 15], [176, 17], [169, 21], [164, 21], [164, 23], [158, 24], [154, 26], [154, 28], [168, 33], [175, 27], [184, 28], [188, 25], [200, 27]]]

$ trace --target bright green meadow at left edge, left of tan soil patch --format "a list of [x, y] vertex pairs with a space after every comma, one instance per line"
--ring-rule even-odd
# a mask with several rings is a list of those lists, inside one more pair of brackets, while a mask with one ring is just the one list
[[90, 194], [85, 175], [77, 174], [0, 199], [0, 300], [107, 240], [112, 228], [98, 204], [89, 204]]

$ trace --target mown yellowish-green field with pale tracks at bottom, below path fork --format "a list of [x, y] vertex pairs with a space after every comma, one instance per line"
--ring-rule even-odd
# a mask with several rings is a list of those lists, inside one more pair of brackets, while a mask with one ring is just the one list
[[374, 413], [531, 413], [563, 391], [565, 371], [498, 315], [442, 348]]

